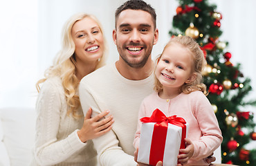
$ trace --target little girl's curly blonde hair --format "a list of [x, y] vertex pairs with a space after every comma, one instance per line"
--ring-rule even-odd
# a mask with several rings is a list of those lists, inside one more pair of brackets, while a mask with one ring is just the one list
[[[170, 39], [170, 42], [166, 44], [163, 52], [167, 47], [172, 46], [172, 44], [180, 44], [181, 46], [184, 46], [184, 48], [188, 48], [194, 60], [194, 68], [192, 70], [192, 73], [196, 73], [196, 79], [194, 79], [194, 81], [190, 82], [189, 84], [184, 83], [183, 86], [181, 86], [180, 91], [186, 94], [191, 93], [192, 91], [202, 91], [205, 95], [207, 95], [206, 86], [205, 84], [203, 84], [203, 76], [201, 74], [204, 66], [206, 65], [206, 60], [203, 56], [203, 51], [201, 50], [199, 44], [197, 44], [194, 39], [188, 36], [172, 37], [172, 39]], [[163, 52], [156, 58], [156, 65], [161, 59]], [[156, 78], [156, 75], [154, 90], [157, 92], [163, 91], [163, 85]]]

